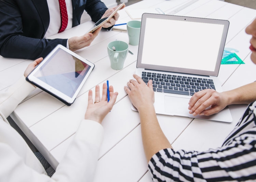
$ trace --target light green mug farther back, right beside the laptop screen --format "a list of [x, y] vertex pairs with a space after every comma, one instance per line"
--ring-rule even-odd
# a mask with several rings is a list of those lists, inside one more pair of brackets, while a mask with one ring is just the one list
[[127, 33], [129, 37], [129, 44], [139, 45], [140, 27], [141, 27], [141, 22], [137, 20], [132, 20], [127, 23]]

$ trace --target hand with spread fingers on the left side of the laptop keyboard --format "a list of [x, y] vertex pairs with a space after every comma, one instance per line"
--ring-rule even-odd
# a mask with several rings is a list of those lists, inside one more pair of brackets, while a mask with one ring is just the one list
[[126, 93], [128, 94], [134, 107], [140, 110], [142, 108], [147, 108], [148, 106], [153, 106], [155, 102], [154, 91], [152, 80], [149, 80], [147, 85], [144, 81], [136, 74], [133, 77], [137, 80], [129, 80], [127, 86], [124, 87]]

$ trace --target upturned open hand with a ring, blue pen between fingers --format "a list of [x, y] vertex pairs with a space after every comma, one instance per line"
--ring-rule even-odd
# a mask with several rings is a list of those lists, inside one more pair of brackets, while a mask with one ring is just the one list
[[112, 107], [116, 102], [117, 92], [114, 93], [113, 86], [109, 87], [110, 100], [107, 98], [107, 85], [103, 84], [102, 97], [100, 100], [100, 87], [97, 85], [95, 88], [95, 102], [93, 102], [93, 91], [89, 90], [88, 93], [88, 106], [84, 116], [86, 120], [93, 120], [101, 123], [104, 117], [111, 111]]

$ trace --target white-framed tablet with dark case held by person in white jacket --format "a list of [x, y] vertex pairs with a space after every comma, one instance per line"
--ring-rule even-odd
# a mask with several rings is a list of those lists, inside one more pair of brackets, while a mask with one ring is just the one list
[[26, 80], [70, 106], [93, 68], [90, 61], [57, 45]]

